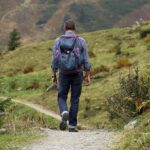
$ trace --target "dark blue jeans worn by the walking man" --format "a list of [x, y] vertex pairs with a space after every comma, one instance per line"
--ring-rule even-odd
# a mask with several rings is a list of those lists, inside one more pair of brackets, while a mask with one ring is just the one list
[[67, 96], [71, 88], [71, 100], [69, 110], [69, 125], [77, 125], [77, 114], [79, 109], [79, 97], [82, 90], [83, 74], [63, 75], [59, 74], [58, 86], [58, 105], [60, 114], [63, 111], [68, 111]]

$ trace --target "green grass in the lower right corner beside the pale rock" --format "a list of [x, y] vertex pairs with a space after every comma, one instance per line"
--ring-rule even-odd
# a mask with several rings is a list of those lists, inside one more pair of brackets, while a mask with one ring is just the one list
[[116, 150], [148, 150], [150, 148], [150, 113], [145, 113], [137, 119], [135, 129], [124, 132]]

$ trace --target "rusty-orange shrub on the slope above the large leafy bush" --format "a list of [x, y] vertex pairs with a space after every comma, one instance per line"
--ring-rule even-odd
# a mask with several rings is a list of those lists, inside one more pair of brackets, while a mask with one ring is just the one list
[[131, 66], [131, 62], [129, 61], [129, 58], [127, 56], [122, 56], [119, 58], [116, 68], [120, 69], [122, 67], [128, 67], [128, 66]]

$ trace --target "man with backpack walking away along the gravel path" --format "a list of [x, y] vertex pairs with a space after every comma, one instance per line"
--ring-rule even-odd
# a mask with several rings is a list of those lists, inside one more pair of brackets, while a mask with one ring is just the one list
[[[69, 132], [78, 132], [77, 114], [79, 98], [81, 95], [83, 70], [85, 71], [85, 82], [90, 84], [90, 63], [87, 53], [86, 42], [76, 35], [75, 23], [68, 20], [64, 24], [65, 34], [57, 38], [53, 48], [52, 70], [53, 84], [57, 84], [56, 72], [59, 71], [58, 79], [58, 106], [62, 121], [60, 129], [67, 128], [69, 121]], [[67, 106], [67, 95], [71, 89], [70, 108]]]

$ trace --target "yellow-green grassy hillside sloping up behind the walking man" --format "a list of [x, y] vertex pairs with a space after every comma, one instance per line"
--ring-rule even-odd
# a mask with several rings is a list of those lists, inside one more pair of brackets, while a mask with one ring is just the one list
[[[147, 29], [149, 25], [135, 30], [110, 29], [82, 34], [88, 43], [92, 84], [83, 87], [79, 111], [81, 124], [88, 128], [120, 129], [129, 121], [119, 117], [111, 119], [106, 103], [107, 98], [117, 90], [120, 75], [128, 74], [129, 66], [138, 66], [140, 75], [150, 76], [150, 36], [140, 37], [141, 33], [147, 33]], [[0, 55], [1, 95], [24, 98], [58, 113], [57, 91], [46, 92], [51, 83], [53, 42], [34, 43]], [[149, 113], [142, 115], [141, 119], [143, 123], [139, 123], [133, 133], [139, 129], [141, 134], [149, 132], [149, 125], [144, 129]], [[129, 135], [126, 134], [126, 141], [130, 142], [132, 138], [128, 138]], [[135, 134], [135, 137], [134, 144], [139, 144], [138, 135]], [[149, 133], [146, 138], [149, 139]], [[129, 147], [128, 142], [124, 144], [121, 147]], [[150, 145], [147, 140], [145, 145]]]

